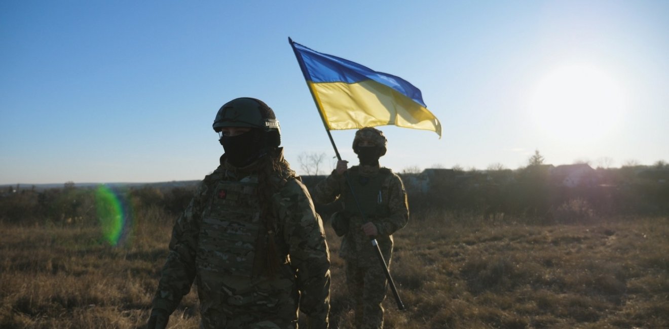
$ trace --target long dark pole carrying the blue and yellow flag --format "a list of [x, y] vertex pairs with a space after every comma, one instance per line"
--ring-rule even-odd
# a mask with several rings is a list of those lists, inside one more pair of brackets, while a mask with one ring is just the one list
[[[339, 150], [337, 150], [337, 145], [334, 144], [334, 139], [332, 139], [332, 134], [330, 133], [330, 129], [325, 120], [325, 117], [323, 116], [322, 109], [320, 108], [318, 100], [316, 99], [316, 95], [314, 94], [314, 91], [309, 87], [308, 83], [309, 76], [306, 73], [306, 66], [304, 65], [304, 60], [302, 60], [302, 55], [300, 55], [297, 49], [295, 49], [295, 45], [292, 39], [290, 39], [290, 37], [288, 37], [288, 42], [290, 43], [290, 47], [292, 47], [295, 53], [295, 58], [297, 59], [297, 62], [300, 65], [300, 70], [302, 70], [302, 74], [304, 75], [304, 82], [306, 83], [306, 87], [311, 93], [311, 97], [314, 100], [314, 104], [316, 104], [316, 109], [318, 109], [318, 115], [320, 115], [320, 120], [322, 120], [323, 126], [325, 127], [325, 131], [328, 133], [328, 137], [330, 138], [330, 143], [332, 143], [332, 148], [334, 148], [334, 154], [337, 154], [337, 159], [341, 161], [341, 155], [339, 155]], [[351, 189], [351, 195], [353, 196], [353, 200], [355, 200], [355, 205], [358, 208], [361, 217], [363, 218], [363, 223], [367, 223], [367, 219], [365, 218], [365, 213], [363, 212], [363, 208], [360, 206], [358, 198], [355, 196], [355, 191], [353, 191], [353, 186], [351, 185], [351, 181], [349, 180], [349, 173], [345, 171], [344, 177], [346, 178], [347, 185], [349, 185], [349, 189]], [[375, 238], [372, 238], [371, 244], [372, 247], [376, 250], [379, 263], [381, 263], [381, 266], [383, 266], [383, 271], [385, 272], [385, 278], [388, 280], [390, 289], [393, 292], [393, 296], [395, 296], [395, 303], [397, 303], [397, 309], [404, 310], [405, 309], [404, 304], [402, 303], [402, 300], [399, 298], [399, 294], [397, 293], [397, 288], [395, 287], [395, 282], [393, 282], [393, 277], [390, 275], [388, 264], [385, 262], [385, 259], [383, 258], [383, 253], [381, 253], [381, 248], [379, 248], [379, 243], [377, 243]]]

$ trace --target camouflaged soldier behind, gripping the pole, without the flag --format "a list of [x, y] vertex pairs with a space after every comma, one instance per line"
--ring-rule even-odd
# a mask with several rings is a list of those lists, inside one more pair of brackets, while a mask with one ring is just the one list
[[[343, 236], [339, 255], [345, 259], [347, 286], [355, 299], [357, 328], [383, 328], [381, 302], [387, 292], [387, 280], [370, 239], [376, 237], [390, 266], [391, 235], [409, 220], [407, 195], [401, 179], [390, 169], [379, 167], [379, 157], [385, 154], [386, 144], [380, 130], [371, 127], [358, 130], [353, 150], [358, 154], [360, 165], [347, 169], [347, 161], [339, 161], [337, 169], [316, 185], [312, 195], [318, 203], [330, 203], [339, 198], [343, 201], [344, 210], [335, 213], [331, 223], [335, 233]], [[364, 219], [351, 188], [365, 213]]]

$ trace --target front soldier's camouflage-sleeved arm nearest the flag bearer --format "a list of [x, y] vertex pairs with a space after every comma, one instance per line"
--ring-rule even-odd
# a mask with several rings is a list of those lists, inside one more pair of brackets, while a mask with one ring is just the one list
[[306, 187], [296, 180], [286, 183], [277, 203], [290, 263], [298, 273], [300, 310], [308, 316], [310, 329], [328, 328], [330, 253], [322, 221]]

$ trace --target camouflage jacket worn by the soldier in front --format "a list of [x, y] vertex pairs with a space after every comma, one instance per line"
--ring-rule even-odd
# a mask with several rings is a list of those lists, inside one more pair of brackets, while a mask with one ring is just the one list
[[[191, 203], [175, 223], [153, 308], [171, 314], [195, 280], [204, 328], [237, 328], [268, 318], [274, 323], [285, 324], [285, 328], [296, 328], [298, 307], [308, 316], [310, 328], [327, 328], [330, 309], [329, 251], [322, 221], [314, 211], [308, 191], [298, 177], [272, 177], [282, 181], [278, 185], [280, 189], [271, 198], [276, 233], [274, 230], [266, 233], [264, 225], [254, 226], [232, 219], [227, 221], [211, 213], [215, 213], [217, 207], [230, 217], [234, 217], [235, 212], [244, 213], [246, 201], [240, 199], [243, 193], [235, 195], [232, 191], [248, 189], [249, 182], [253, 182], [254, 178], [257, 181], [258, 174], [253, 165], [235, 169], [226, 165], [224, 160], [221, 163], [200, 183]], [[221, 186], [226, 189], [221, 189]], [[224, 204], [219, 202], [221, 199], [234, 202]], [[262, 220], [256, 220], [258, 212], [240, 218], [262, 223]], [[262, 267], [260, 272], [256, 271], [258, 257], [266, 257], [264, 251], [267, 248], [255, 243], [255, 237], [235, 243], [242, 247], [248, 245], [243, 255], [237, 254], [239, 248], [236, 251], [228, 248], [229, 241], [221, 242], [225, 235], [248, 233], [248, 230], [244, 231], [245, 225], [260, 227], [256, 231], [263, 239], [269, 234], [274, 235], [279, 268], [273, 276], [263, 272]], [[218, 247], [217, 243], [221, 246]], [[253, 271], [251, 267], [226, 268], [229, 265], [227, 260], [232, 265], [244, 265], [244, 259], [239, 261], [244, 257], [256, 258], [246, 262], [246, 265], [253, 265]], [[212, 263], [211, 259], [217, 263]], [[260, 260], [262, 263], [263, 259]], [[227, 318], [227, 322], [222, 323], [221, 318]], [[284, 329], [284, 326], [281, 328]]]

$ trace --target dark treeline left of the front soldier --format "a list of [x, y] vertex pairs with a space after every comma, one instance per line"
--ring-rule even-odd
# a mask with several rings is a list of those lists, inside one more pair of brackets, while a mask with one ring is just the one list
[[[76, 187], [72, 182], [62, 188], [38, 191], [34, 187], [7, 187], [0, 192], [0, 221], [3, 223], [89, 224], [98, 222], [100, 193], [113, 195], [114, 203], [128, 218], [151, 217], [171, 221], [188, 205], [195, 184], [189, 186]], [[104, 200], [108, 200], [104, 199]], [[104, 201], [109, 202], [109, 201]]]

